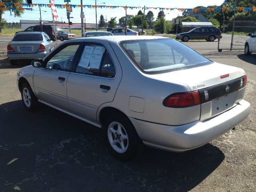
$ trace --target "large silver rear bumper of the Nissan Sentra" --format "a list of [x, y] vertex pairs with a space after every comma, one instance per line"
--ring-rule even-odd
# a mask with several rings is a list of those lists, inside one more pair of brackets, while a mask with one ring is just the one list
[[250, 113], [250, 103], [241, 100], [237, 106], [204, 122], [195, 121], [170, 126], [130, 118], [138, 135], [147, 146], [183, 152], [200, 147], [242, 122]]

